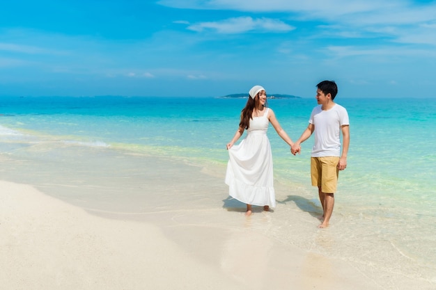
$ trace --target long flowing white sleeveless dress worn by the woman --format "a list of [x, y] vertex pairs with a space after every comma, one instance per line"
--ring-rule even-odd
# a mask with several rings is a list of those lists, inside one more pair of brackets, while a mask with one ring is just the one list
[[268, 108], [263, 116], [250, 119], [247, 136], [228, 150], [225, 182], [228, 194], [240, 202], [276, 207], [267, 114]]

